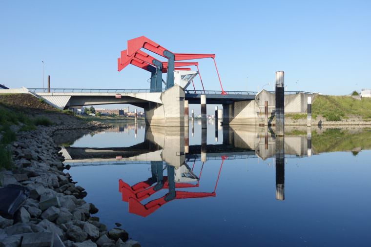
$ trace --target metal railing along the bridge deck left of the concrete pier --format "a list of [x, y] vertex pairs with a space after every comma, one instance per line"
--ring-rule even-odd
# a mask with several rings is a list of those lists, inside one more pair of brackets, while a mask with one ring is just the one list
[[[28, 88], [34, 93], [48, 93], [47, 88]], [[154, 93], [165, 89], [98, 89], [98, 88], [50, 88], [51, 93]]]

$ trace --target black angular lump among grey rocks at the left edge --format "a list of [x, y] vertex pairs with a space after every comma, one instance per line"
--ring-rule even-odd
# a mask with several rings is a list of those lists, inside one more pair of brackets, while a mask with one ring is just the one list
[[0, 188], [0, 215], [12, 219], [29, 194], [28, 188], [21, 185], [7, 185]]

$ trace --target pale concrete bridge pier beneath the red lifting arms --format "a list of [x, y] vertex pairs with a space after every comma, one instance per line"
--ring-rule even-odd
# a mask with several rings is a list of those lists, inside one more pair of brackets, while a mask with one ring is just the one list
[[149, 102], [144, 107], [145, 124], [154, 126], [184, 126], [184, 90], [179, 85], [160, 96], [163, 104]]

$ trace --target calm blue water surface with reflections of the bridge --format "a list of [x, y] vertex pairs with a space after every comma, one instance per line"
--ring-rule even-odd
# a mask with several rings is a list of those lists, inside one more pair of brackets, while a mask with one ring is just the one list
[[63, 153], [101, 222], [144, 247], [371, 246], [371, 129], [285, 131], [117, 124]]

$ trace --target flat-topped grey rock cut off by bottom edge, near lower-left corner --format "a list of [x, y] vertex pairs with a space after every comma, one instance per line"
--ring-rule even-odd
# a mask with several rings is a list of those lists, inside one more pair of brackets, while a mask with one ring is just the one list
[[21, 247], [64, 247], [60, 237], [51, 232], [25, 233]]

